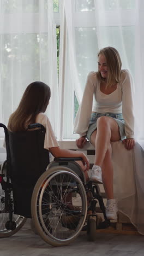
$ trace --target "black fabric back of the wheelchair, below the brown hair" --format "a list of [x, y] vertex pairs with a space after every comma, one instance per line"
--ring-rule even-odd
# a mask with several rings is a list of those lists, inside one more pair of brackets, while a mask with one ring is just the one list
[[[38, 127], [36, 130], [33, 130]], [[32, 130], [31, 130], [32, 129]], [[13, 185], [14, 213], [31, 218], [31, 197], [35, 183], [49, 164], [49, 151], [44, 149], [45, 128], [28, 126], [24, 132], [10, 132], [6, 144], [10, 150], [10, 178]]]

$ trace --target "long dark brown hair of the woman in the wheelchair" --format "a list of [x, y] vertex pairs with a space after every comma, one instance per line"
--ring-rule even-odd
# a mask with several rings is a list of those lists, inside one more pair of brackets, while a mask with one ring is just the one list
[[10, 115], [8, 129], [10, 131], [25, 131], [26, 122], [35, 123], [40, 112], [45, 112], [51, 97], [50, 87], [43, 82], [29, 84], [21, 98], [20, 104]]

